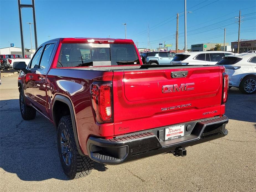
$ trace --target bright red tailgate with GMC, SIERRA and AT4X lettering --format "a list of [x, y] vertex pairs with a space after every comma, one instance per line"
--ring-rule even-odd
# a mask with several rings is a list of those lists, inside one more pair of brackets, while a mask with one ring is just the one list
[[114, 134], [220, 115], [223, 72], [220, 66], [114, 71]]

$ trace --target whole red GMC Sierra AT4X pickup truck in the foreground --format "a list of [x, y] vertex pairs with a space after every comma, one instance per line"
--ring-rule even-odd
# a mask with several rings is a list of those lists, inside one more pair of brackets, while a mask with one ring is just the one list
[[226, 136], [221, 65], [143, 65], [132, 40], [58, 38], [17, 62], [20, 111], [57, 128], [64, 173], [120, 164]]

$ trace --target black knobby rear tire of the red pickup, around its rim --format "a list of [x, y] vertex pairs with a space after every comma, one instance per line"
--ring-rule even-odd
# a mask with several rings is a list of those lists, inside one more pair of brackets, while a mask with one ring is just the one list
[[[72, 154], [71, 163], [67, 165], [64, 161], [64, 157], [62, 154], [62, 145], [61, 145], [61, 133], [66, 131], [68, 135], [68, 143], [69, 143], [69, 153]], [[85, 177], [89, 175], [93, 168], [93, 160], [91, 160], [87, 155], [82, 156], [79, 154], [76, 148], [76, 142], [73, 132], [72, 120], [71, 116], [63, 116], [60, 119], [58, 125], [58, 134], [57, 134], [57, 144], [58, 144], [58, 152], [61, 161], [61, 166], [63, 168], [63, 172], [70, 179], [77, 179], [81, 177]]]

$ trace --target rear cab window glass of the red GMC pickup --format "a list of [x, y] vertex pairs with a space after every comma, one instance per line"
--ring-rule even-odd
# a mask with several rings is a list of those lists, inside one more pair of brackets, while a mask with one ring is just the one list
[[139, 64], [133, 44], [64, 43], [57, 67]]

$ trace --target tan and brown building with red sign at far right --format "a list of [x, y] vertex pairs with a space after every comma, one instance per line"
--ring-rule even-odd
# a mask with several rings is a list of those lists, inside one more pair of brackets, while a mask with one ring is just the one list
[[[231, 51], [237, 53], [238, 41], [231, 42]], [[246, 53], [247, 51], [256, 51], [256, 40], [240, 40], [239, 53]]]

